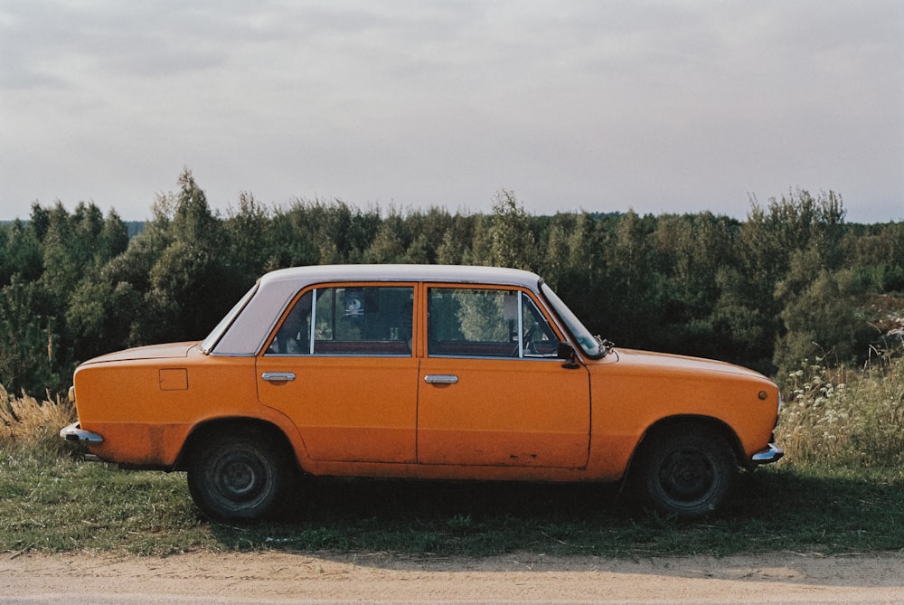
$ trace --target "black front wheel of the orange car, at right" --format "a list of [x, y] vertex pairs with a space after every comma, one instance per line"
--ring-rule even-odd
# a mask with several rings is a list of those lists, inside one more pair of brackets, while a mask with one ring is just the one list
[[696, 424], [648, 436], [632, 468], [638, 496], [646, 506], [685, 519], [719, 510], [737, 474], [728, 442]]

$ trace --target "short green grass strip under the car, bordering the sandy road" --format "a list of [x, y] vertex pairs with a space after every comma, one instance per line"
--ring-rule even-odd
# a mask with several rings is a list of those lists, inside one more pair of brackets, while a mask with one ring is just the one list
[[513, 551], [644, 558], [904, 548], [904, 472], [763, 468], [698, 523], [636, 510], [617, 487], [307, 480], [278, 521], [203, 519], [184, 475], [0, 451], [0, 552]]

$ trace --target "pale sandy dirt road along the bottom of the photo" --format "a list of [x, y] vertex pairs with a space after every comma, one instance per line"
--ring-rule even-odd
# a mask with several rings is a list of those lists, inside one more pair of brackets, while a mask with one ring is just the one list
[[0, 555], [0, 603], [904, 603], [904, 552], [612, 560], [513, 553]]

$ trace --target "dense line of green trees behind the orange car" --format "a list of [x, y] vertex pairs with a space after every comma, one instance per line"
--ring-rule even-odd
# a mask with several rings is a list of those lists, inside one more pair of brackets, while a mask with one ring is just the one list
[[[831, 354], [861, 363], [904, 295], [904, 223], [844, 222], [833, 192], [791, 191], [746, 220], [713, 213], [531, 215], [268, 207], [212, 212], [191, 171], [129, 237], [115, 211], [33, 203], [0, 226], [0, 383], [61, 392], [92, 356], [201, 339], [262, 273], [328, 263], [498, 265], [540, 273], [617, 345], [743, 364], [779, 380]], [[883, 323], [884, 322], [884, 323]]]

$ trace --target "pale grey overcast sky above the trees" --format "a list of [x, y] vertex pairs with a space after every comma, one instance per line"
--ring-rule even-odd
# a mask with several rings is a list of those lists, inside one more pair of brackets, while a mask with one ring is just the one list
[[904, 220], [900, 0], [0, 0], [0, 219], [728, 214], [798, 189]]

